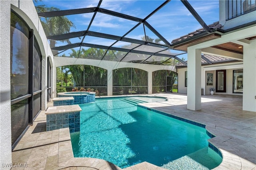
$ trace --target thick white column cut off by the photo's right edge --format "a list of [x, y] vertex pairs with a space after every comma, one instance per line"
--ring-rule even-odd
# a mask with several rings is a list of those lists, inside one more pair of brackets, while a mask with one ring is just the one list
[[244, 45], [243, 110], [256, 111], [256, 39]]

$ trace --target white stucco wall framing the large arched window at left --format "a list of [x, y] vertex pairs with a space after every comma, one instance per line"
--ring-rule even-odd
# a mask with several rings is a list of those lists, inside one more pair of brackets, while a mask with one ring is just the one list
[[[46, 56], [52, 56], [32, 0], [0, 0], [0, 166], [12, 163], [10, 105], [10, 11], [34, 29], [42, 53], [42, 109], [46, 109]], [[26, 163], [26, 162], [20, 162]]]

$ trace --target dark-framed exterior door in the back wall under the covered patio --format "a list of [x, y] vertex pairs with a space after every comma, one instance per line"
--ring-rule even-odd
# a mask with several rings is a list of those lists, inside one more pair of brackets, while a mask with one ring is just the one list
[[216, 92], [226, 92], [226, 70], [216, 70]]

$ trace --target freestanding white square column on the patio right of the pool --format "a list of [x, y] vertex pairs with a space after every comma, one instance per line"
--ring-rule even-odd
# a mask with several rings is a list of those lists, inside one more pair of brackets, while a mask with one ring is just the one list
[[190, 110], [201, 109], [201, 49], [188, 47], [188, 104]]

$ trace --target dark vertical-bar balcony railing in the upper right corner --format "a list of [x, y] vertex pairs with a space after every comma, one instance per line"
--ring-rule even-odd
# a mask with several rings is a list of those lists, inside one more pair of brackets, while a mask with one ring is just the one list
[[256, 0], [227, 0], [226, 3], [228, 4], [227, 20], [256, 10]]

